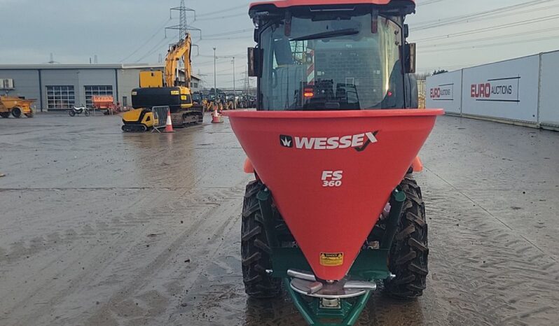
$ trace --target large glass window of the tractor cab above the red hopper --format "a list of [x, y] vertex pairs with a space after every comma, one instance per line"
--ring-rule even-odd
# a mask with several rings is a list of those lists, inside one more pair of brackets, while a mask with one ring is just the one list
[[[401, 28], [371, 14], [292, 17], [261, 34], [261, 109], [403, 108]], [[287, 34], [287, 35], [286, 35]]]

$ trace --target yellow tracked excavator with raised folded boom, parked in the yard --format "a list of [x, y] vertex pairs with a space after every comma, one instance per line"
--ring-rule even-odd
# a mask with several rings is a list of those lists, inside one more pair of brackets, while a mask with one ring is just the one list
[[[139, 88], [132, 90], [132, 111], [123, 114], [124, 132], [146, 132], [156, 121], [154, 106], [169, 106], [173, 127], [202, 123], [204, 107], [192, 99], [191, 35], [171, 45], [165, 57], [165, 71], [141, 71]], [[184, 62], [184, 78], [179, 63]]]

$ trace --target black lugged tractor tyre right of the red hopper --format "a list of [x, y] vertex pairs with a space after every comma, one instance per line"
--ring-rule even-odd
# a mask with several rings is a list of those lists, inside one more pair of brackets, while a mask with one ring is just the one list
[[427, 221], [421, 188], [410, 174], [400, 187], [406, 193], [406, 202], [388, 259], [389, 270], [396, 277], [385, 280], [385, 292], [397, 299], [413, 299], [423, 294], [429, 273]]

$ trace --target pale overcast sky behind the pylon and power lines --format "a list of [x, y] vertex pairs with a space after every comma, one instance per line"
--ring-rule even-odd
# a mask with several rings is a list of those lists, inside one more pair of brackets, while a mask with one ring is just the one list
[[[246, 0], [186, 0], [196, 10], [188, 15], [194, 41], [193, 70], [213, 86], [213, 50], [219, 57], [218, 87], [242, 87], [247, 47], [253, 27]], [[559, 0], [418, 0], [417, 13], [408, 18], [410, 41], [417, 41], [418, 70], [455, 70], [538, 52], [559, 50]], [[462, 23], [426, 28], [427, 22], [455, 21], [464, 15], [490, 12], [520, 3], [514, 10], [490, 17], [473, 15]], [[535, 3], [535, 5], [534, 5]], [[0, 64], [153, 63], [165, 56], [167, 45], [177, 41], [177, 31], [165, 26], [169, 8], [180, 0], [0, 0]], [[529, 5], [530, 4], [530, 5]], [[514, 24], [514, 25], [512, 25]], [[464, 34], [460, 36], [460, 33]], [[226, 34], [226, 35], [223, 35]], [[228, 35], [227, 35], [228, 34]], [[456, 35], [459, 34], [459, 35]], [[529, 42], [527, 42], [529, 41]]]

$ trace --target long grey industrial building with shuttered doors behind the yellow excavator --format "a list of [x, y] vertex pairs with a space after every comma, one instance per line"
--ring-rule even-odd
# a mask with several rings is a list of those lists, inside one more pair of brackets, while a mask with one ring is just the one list
[[[64, 111], [91, 106], [93, 95], [112, 95], [131, 106], [130, 93], [139, 87], [139, 72], [163, 70], [163, 64], [1, 64], [0, 94], [36, 99], [36, 111]], [[193, 76], [191, 89], [199, 90]]]

